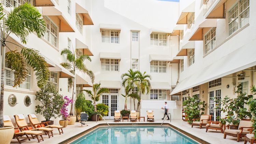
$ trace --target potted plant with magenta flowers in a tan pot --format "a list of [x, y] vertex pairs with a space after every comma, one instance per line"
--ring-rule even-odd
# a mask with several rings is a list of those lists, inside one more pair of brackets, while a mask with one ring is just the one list
[[61, 113], [61, 120], [59, 121], [59, 125], [63, 126], [63, 127], [67, 127], [68, 125], [68, 106], [69, 104], [72, 104], [73, 100], [71, 98], [68, 98], [68, 96], [64, 97], [64, 104], [62, 105], [61, 109], [60, 109], [60, 113]]

